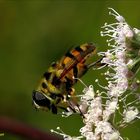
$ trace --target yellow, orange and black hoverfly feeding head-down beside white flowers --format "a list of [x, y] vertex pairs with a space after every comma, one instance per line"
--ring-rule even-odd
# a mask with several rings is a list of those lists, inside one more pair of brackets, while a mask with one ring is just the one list
[[37, 89], [33, 91], [35, 107], [50, 110], [53, 114], [57, 114], [59, 108], [67, 110], [73, 100], [70, 98], [74, 95], [73, 85], [77, 78], [82, 77], [94, 65], [86, 63], [88, 57], [95, 52], [96, 47], [92, 43], [82, 44], [68, 51], [60, 61], [52, 63], [43, 74]]

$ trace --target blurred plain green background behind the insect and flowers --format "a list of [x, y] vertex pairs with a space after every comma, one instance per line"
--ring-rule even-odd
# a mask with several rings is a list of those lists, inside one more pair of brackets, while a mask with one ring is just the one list
[[[140, 27], [140, 1], [4, 1], [0, 0], [0, 115], [9, 116], [44, 131], [60, 126], [79, 135], [79, 115], [62, 118], [32, 106], [32, 90], [48, 66], [71, 46], [94, 42], [107, 49], [100, 36], [101, 26], [114, 21], [108, 7], [122, 14], [132, 27]], [[101, 71], [89, 71], [82, 79], [89, 85]], [[103, 80], [102, 80], [103, 81]], [[103, 81], [104, 82], [104, 81]], [[80, 83], [76, 92], [83, 89]], [[96, 86], [95, 86], [96, 89]], [[130, 140], [139, 140], [140, 122], [121, 130]], [[4, 140], [21, 139], [5, 133]]]

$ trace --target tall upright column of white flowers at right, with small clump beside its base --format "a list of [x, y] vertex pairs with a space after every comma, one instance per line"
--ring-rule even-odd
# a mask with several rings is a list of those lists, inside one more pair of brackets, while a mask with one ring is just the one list
[[[107, 24], [102, 27], [105, 31], [101, 32], [102, 36], [110, 37], [108, 46], [112, 48], [107, 52], [100, 53], [105, 57], [102, 63], [105, 63], [110, 68], [105, 73], [108, 80], [107, 96], [109, 100], [106, 101], [106, 107], [103, 111], [103, 119], [106, 121], [110, 119], [111, 114], [114, 114], [119, 109], [119, 101], [123, 101], [121, 98], [124, 93], [129, 89], [128, 80], [130, 78], [129, 65], [133, 63], [133, 60], [126, 57], [128, 48], [131, 47], [131, 39], [136, 33], [135, 29], [132, 29], [125, 19], [120, 16], [114, 9], [109, 8], [110, 15], [115, 16], [117, 23]], [[126, 96], [127, 97], [127, 96]], [[125, 101], [123, 101], [125, 102]], [[128, 123], [135, 118], [138, 118], [139, 111], [135, 107], [126, 107], [123, 112], [123, 123]], [[130, 115], [131, 114], [131, 115]]]

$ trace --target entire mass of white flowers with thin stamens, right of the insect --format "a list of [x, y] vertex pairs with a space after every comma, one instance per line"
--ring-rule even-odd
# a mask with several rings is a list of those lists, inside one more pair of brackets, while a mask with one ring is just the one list
[[[140, 31], [132, 29], [114, 9], [109, 8], [109, 10], [109, 14], [113, 15], [117, 22], [105, 23], [101, 35], [110, 38], [107, 42], [111, 49], [99, 53], [103, 56], [101, 63], [108, 67], [105, 73], [108, 86], [104, 87], [105, 91], [98, 91], [97, 93], [94, 92], [91, 85], [83, 90], [84, 94], [81, 96], [79, 108], [84, 115], [83, 122], [85, 125], [80, 129], [81, 136], [79, 137], [71, 137], [61, 131], [59, 134], [65, 140], [83, 138], [86, 140], [123, 140], [119, 131], [113, 127], [114, 122], [110, 121], [112, 115], [115, 116], [117, 111], [120, 112], [120, 102], [123, 104], [123, 112], [120, 113], [122, 117], [119, 122], [121, 123], [120, 126], [140, 118], [138, 108], [133, 105], [135, 101], [128, 104], [125, 102], [126, 98], [133, 94], [133, 92], [128, 93], [128, 95], [125, 94], [130, 89], [129, 66], [133, 63], [133, 59], [128, 58], [126, 53], [131, 48], [131, 40], [134, 35]], [[98, 85], [100, 84], [98, 83]], [[102, 96], [102, 93], [105, 93], [106, 96]], [[103, 98], [105, 99], [104, 104], [102, 103]], [[55, 131], [55, 133], [58, 132]]]

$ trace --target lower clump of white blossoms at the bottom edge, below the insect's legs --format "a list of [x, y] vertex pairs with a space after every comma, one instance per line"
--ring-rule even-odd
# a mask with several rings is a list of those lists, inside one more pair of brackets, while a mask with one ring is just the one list
[[86, 140], [121, 140], [118, 131], [103, 118], [101, 96], [94, 97], [95, 93], [92, 86], [86, 88], [84, 92], [81, 100], [87, 103], [88, 111], [84, 114], [85, 126], [80, 129], [81, 135]]

